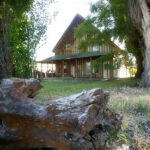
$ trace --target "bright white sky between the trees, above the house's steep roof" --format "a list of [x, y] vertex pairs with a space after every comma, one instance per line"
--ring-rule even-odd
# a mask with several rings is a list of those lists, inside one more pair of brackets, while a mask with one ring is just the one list
[[36, 50], [36, 60], [43, 60], [53, 56], [54, 46], [65, 32], [74, 16], [78, 13], [83, 17], [90, 14], [90, 4], [97, 0], [55, 0], [55, 3], [50, 4], [49, 14], [55, 10], [58, 11], [55, 18], [52, 18], [48, 25], [47, 39], [45, 44]]

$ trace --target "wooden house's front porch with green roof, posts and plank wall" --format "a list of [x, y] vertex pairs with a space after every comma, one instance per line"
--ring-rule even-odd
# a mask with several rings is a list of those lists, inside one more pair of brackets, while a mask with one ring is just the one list
[[[47, 77], [70, 77], [70, 78], [90, 78], [90, 79], [103, 79], [112, 78], [113, 71], [105, 69], [106, 62], [97, 69], [91, 67], [94, 62], [102, 53], [100, 52], [86, 52], [80, 54], [70, 55], [57, 55], [41, 61], [41, 75], [40, 78]], [[107, 62], [109, 63], [109, 62]], [[43, 64], [51, 64], [51, 73], [42, 73]], [[55, 66], [55, 67], [54, 67]], [[55, 68], [55, 69], [54, 69]]]

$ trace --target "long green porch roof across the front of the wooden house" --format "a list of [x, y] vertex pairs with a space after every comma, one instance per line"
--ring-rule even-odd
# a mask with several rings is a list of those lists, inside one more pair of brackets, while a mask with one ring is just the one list
[[104, 55], [102, 52], [84, 52], [78, 54], [66, 54], [66, 55], [56, 55], [44, 59], [42, 61], [38, 61], [39, 63], [48, 63], [52, 61], [61, 61], [61, 60], [71, 60], [71, 59], [81, 59], [81, 58], [88, 58], [88, 57], [98, 57]]

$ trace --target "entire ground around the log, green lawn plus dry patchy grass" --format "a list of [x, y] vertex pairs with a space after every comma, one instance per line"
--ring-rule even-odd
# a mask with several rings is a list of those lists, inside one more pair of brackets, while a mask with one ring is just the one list
[[122, 130], [108, 139], [110, 150], [150, 150], [150, 89], [134, 87], [137, 79], [43, 82], [40, 101], [92, 88], [110, 91], [109, 107], [123, 115]]

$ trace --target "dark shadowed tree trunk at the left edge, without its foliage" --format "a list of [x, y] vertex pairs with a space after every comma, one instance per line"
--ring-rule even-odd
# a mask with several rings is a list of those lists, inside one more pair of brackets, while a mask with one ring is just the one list
[[[0, 6], [2, 5], [1, 2]], [[8, 30], [6, 28], [8, 19], [5, 18], [6, 12], [7, 10], [2, 7], [0, 11], [2, 15], [2, 18], [0, 18], [0, 80], [12, 74], [12, 64], [8, 50]]]

